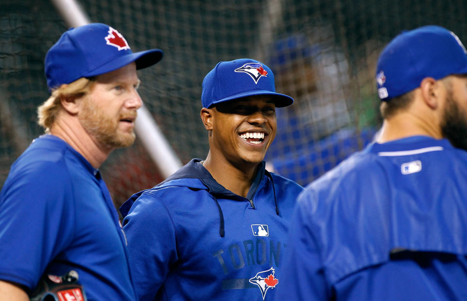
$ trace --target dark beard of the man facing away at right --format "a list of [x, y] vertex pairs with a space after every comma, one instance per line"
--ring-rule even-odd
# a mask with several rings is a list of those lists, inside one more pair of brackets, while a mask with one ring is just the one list
[[443, 136], [458, 149], [467, 151], [467, 112], [454, 100], [452, 91], [448, 91], [441, 131]]

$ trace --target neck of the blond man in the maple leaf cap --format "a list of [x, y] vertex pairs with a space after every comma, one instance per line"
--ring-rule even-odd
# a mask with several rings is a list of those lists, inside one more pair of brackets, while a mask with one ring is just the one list
[[50, 134], [68, 143], [88, 160], [94, 168], [99, 168], [112, 151], [99, 146], [86, 132], [77, 117], [65, 116], [59, 113], [50, 129]]

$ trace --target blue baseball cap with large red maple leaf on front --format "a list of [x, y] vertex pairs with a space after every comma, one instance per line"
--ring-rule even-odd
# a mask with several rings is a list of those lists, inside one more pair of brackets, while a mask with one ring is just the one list
[[102, 23], [70, 28], [45, 56], [49, 90], [70, 84], [81, 77], [104, 74], [132, 62], [136, 69], [152, 66], [162, 59], [162, 50], [133, 53], [121, 33]]

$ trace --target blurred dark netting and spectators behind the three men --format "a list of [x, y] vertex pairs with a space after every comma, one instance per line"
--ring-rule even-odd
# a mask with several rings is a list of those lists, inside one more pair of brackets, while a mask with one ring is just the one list
[[[396, 34], [437, 24], [467, 41], [465, 0], [78, 2], [91, 21], [123, 33], [134, 52], [164, 50], [159, 64], [139, 71], [140, 94], [183, 164], [208, 152], [199, 118], [206, 73], [236, 58], [268, 65], [276, 90], [295, 103], [277, 110], [266, 160], [302, 185], [372, 141], [381, 123], [377, 56]], [[0, 1], [0, 188], [10, 165], [43, 134], [36, 107], [49, 96], [44, 57], [67, 28], [49, 0]], [[138, 139], [101, 170], [116, 206], [164, 179]]]

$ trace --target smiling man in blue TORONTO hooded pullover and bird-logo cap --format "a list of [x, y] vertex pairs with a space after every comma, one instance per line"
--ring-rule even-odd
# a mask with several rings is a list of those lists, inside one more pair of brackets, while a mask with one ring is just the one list
[[120, 208], [140, 300], [271, 300], [281, 289], [291, 209], [302, 187], [265, 169], [277, 130], [266, 65], [220, 62], [203, 81], [206, 160]]

